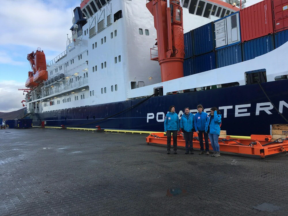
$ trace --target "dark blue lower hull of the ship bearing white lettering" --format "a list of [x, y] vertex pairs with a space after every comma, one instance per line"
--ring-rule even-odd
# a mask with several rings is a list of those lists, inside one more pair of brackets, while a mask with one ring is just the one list
[[[288, 80], [261, 85], [276, 109], [288, 118]], [[222, 113], [221, 130], [227, 130], [229, 135], [270, 134], [270, 124], [287, 122], [271, 105], [264, 92], [259, 84], [252, 84], [155, 96], [144, 102], [145, 99], [142, 98], [63, 109], [35, 114], [33, 125], [41, 125], [41, 121], [46, 121], [46, 126], [95, 128], [99, 125], [106, 129], [163, 131], [164, 115], [170, 105], [175, 105], [176, 112], [180, 112], [181, 116], [181, 110], [185, 107], [196, 109], [198, 104], [202, 104], [208, 110], [219, 107]], [[120, 113], [115, 115], [118, 112]], [[103, 120], [112, 115], [115, 116]]]

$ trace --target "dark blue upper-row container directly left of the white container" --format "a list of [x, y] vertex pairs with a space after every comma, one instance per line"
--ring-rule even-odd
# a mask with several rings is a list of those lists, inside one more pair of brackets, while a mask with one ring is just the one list
[[199, 56], [215, 50], [214, 23], [210, 22], [200, 26], [193, 32], [193, 51], [194, 56]]

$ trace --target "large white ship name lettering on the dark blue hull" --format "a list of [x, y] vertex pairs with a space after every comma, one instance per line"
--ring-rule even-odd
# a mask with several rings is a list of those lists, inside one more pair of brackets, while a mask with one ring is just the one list
[[[251, 108], [255, 107], [255, 109]], [[283, 107], [288, 108], [288, 103], [285, 101], [279, 101], [279, 106], [276, 107], [280, 113], [283, 113]], [[211, 108], [204, 109], [204, 112], [210, 114]], [[273, 114], [271, 111], [274, 109], [272, 103], [270, 102], [264, 102], [264, 103], [256, 103], [255, 106], [251, 106], [251, 103], [249, 104], [241, 104], [241, 105], [230, 105], [230, 106], [220, 106], [218, 108], [222, 111], [223, 118], [227, 118], [227, 113], [229, 112], [229, 115], [234, 115], [234, 117], [243, 117], [243, 116], [251, 116], [251, 115], [260, 115], [260, 114]], [[255, 110], [255, 112], [253, 112]], [[231, 111], [234, 111], [230, 113]], [[190, 109], [190, 112], [197, 113], [197, 109]], [[183, 111], [180, 110], [178, 113], [179, 119], [181, 119], [181, 116], [183, 115]], [[152, 120], [156, 118], [157, 122], [164, 122], [165, 120], [165, 113], [164, 112], [158, 112], [156, 115], [154, 113], [147, 113], [147, 123], [149, 123], [149, 120]]]

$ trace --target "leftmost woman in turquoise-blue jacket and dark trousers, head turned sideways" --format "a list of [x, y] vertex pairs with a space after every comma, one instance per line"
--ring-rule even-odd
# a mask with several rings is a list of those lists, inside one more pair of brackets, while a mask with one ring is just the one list
[[164, 131], [167, 134], [167, 154], [170, 154], [171, 133], [173, 134], [174, 154], [177, 154], [177, 132], [180, 131], [179, 117], [175, 112], [175, 106], [169, 107], [169, 112], [165, 116]]

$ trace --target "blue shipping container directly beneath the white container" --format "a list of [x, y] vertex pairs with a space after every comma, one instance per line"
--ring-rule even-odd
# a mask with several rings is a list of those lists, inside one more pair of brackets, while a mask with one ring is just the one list
[[241, 44], [216, 51], [217, 68], [242, 62]]

